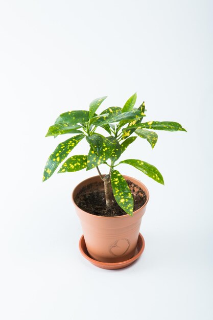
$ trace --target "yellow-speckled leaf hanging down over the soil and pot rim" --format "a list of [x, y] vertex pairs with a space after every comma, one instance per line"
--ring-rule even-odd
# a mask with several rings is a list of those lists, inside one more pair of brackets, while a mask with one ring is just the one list
[[117, 170], [111, 174], [111, 186], [117, 204], [130, 216], [134, 208], [134, 200], [125, 178]]

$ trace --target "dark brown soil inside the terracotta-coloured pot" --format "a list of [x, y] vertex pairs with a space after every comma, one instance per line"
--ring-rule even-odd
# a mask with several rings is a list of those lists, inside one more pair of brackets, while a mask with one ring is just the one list
[[[127, 183], [133, 195], [134, 211], [136, 211], [146, 202], [147, 196], [144, 190], [135, 185], [132, 181], [127, 180]], [[116, 217], [126, 215], [126, 212], [119, 207], [113, 195], [112, 198], [113, 205], [107, 207], [104, 184], [103, 182], [96, 182], [82, 188], [77, 194], [75, 202], [80, 209], [96, 216]]]

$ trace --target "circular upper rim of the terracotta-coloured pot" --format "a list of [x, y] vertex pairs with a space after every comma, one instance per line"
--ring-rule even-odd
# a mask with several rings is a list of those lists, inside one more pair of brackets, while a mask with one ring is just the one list
[[[89, 178], [87, 178], [87, 179], [84, 179], [84, 180], [82, 180], [81, 182], [79, 182], [79, 184], [74, 188], [74, 190], [73, 190], [73, 192], [72, 192], [72, 201], [73, 201], [75, 207], [78, 208], [79, 210], [85, 212], [86, 214], [91, 215], [91, 216], [94, 216], [94, 217], [96, 217], [96, 218], [102, 218], [102, 219], [118, 219], [118, 218], [124, 218], [124, 217], [127, 217], [127, 216], [129, 217], [130, 215], [128, 215], [128, 214], [123, 215], [123, 216], [116, 216], [116, 217], [96, 216], [96, 215], [93, 215], [93, 214], [91, 214], [91, 213], [89, 213], [89, 212], [86, 212], [86, 211], [84, 211], [84, 210], [82, 210], [81, 208], [78, 207], [78, 205], [76, 204], [76, 202], [75, 202], [75, 200], [74, 200], [74, 193], [75, 193], [77, 187], [78, 187], [83, 181], [87, 181], [87, 180], [89, 181], [90, 179], [96, 178], [96, 177], [100, 177], [100, 176], [99, 176], [99, 175], [94, 175], [94, 176], [92, 176], [92, 177], [89, 177]], [[139, 209], [133, 211], [133, 215], [135, 215], [135, 214], [136, 214], [137, 212], [139, 212], [141, 209], [143, 209], [144, 207], [146, 207], [146, 205], [147, 205], [147, 203], [148, 203], [148, 201], [149, 201], [149, 191], [148, 191], [147, 187], [146, 187], [141, 181], [139, 181], [139, 180], [137, 180], [137, 179], [135, 179], [135, 178], [133, 178], [133, 177], [130, 177], [130, 176], [128, 176], [128, 175], [123, 175], [123, 177], [124, 177], [125, 179], [129, 179], [129, 180], [131, 180], [131, 179], [136, 180], [136, 181], [138, 182], [138, 185], [140, 186], [140, 188], [145, 191], [146, 196], [147, 196], [146, 202], [145, 202]]]

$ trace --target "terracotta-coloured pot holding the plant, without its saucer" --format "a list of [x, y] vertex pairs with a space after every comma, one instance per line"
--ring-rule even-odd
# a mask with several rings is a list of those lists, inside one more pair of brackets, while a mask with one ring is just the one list
[[83, 187], [93, 182], [102, 182], [99, 175], [80, 182], [72, 194], [76, 212], [81, 220], [87, 251], [90, 257], [97, 261], [121, 262], [131, 259], [135, 253], [141, 218], [149, 200], [149, 191], [140, 181], [125, 175], [124, 178], [138, 185], [147, 196], [145, 204], [134, 211], [132, 217], [127, 214], [117, 217], [96, 216], [81, 210], [76, 205], [76, 196]]

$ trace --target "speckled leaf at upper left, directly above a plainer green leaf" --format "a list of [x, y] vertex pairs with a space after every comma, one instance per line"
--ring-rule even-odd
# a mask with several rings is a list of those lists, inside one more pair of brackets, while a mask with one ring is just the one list
[[55, 121], [55, 123], [65, 122], [68, 124], [84, 124], [89, 120], [89, 111], [76, 110], [62, 113]]

